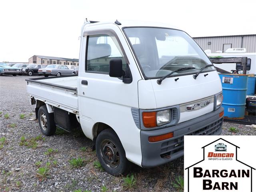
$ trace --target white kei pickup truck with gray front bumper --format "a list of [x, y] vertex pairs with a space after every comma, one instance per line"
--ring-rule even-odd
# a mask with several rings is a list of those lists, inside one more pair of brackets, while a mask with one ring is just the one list
[[219, 135], [220, 77], [184, 31], [168, 24], [86, 21], [78, 76], [27, 79], [44, 135], [82, 128], [109, 174], [184, 154], [184, 135]]

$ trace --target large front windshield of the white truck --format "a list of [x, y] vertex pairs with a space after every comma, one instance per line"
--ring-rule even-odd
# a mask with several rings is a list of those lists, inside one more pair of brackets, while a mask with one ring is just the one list
[[[173, 76], [195, 74], [212, 64], [196, 42], [183, 31], [168, 28], [132, 27], [124, 32], [130, 40], [145, 78], [160, 78], [184, 67], [195, 69], [175, 72]], [[214, 67], [203, 71], [215, 70]]]

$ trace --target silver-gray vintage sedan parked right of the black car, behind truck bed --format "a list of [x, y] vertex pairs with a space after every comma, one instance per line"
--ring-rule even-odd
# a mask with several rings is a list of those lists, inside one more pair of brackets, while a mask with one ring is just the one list
[[44, 75], [45, 77], [48, 77], [49, 75], [75, 75], [76, 70], [68, 68], [66, 65], [48, 65], [44, 69], [38, 70], [39, 74]]

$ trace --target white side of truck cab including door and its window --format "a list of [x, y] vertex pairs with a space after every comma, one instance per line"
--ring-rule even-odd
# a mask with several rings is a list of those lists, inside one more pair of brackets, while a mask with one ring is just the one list
[[[116, 28], [123, 39], [119, 39], [114, 30], [95, 30], [85, 34], [80, 48], [78, 76], [80, 124], [84, 134], [91, 139], [96, 123], [107, 124], [120, 138], [128, 153], [127, 158], [135, 153], [139, 162], [140, 130], [131, 112], [131, 108], [138, 108], [138, 80], [132, 78], [132, 82], [124, 83], [122, 78], [109, 76], [109, 62], [113, 58], [122, 59], [123, 70], [130, 70], [121, 44], [121, 41], [126, 41], [120, 29]], [[127, 43], [125, 46], [129, 49]], [[130, 138], [133, 142], [130, 142]]]

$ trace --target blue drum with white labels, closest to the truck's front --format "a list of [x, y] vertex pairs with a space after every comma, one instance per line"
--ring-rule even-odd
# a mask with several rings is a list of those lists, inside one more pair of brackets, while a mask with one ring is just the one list
[[248, 75], [219, 74], [222, 82], [224, 118], [242, 119], [246, 105]]

